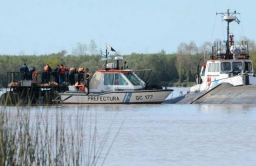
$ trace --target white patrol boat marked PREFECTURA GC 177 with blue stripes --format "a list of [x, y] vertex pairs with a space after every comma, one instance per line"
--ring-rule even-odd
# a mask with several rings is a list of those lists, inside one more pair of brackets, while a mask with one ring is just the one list
[[79, 91], [77, 87], [69, 86], [69, 91], [59, 94], [61, 104], [152, 104], [162, 103], [172, 93], [172, 89], [147, 85], [135, 73], [137, 70], [119, 68], [122, 56], [115, 57], [116, 63], [107, 63], [107, 55], [106, 49], [105, 67], [97, 70], [90, 79], [90, 93], [86, 94], [87, 87], [85, 91]]

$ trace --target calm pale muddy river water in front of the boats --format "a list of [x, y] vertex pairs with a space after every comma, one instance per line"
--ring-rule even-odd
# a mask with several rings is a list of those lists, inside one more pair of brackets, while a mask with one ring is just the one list
[[[181, 90], [186, 92], [184, 88], [175, 90], [174, 96]], [[62, 113], [66, 126], [75, 126], [77, 117], [90, 117], [97, 126], [99, 140], [113, 123], [101, 157], [103, 160], [113, 141], [104, 165], [256, 163], [256, 105], [112, 104], [20, 109], [30, 109], [32, 119], [50, 113], [53, 122], [56, 112]]]

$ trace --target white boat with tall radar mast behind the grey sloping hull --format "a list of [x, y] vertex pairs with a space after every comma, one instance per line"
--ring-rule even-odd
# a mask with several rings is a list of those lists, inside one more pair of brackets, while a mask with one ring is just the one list
[[[233, 34], [229, 34], [229, 23], [239, 20], [234, 16], [237, 12], [217, 13], [224, 15], [227, 21], [227, 41], [225, 50], [221, 42], [215, 42], [210, 60], [201, 65], [196, 85], [190, 87], [188, 93], [205, 92], [214, 87], [228, 83], [232, 86], [256, 85], [252, 60], [249, 59], [248, 42], [242, 41], [235, 45]], [[239, 21], [240, 22], [240, 21]]]

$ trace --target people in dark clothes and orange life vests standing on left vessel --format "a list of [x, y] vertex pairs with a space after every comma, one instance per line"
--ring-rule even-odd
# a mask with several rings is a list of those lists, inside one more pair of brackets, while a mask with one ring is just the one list
[[[36, 68], [34, 66], [29, 69], [26, 63], [24, 63], [24, 65], [22, 65], [20, 68], [20, 72], [23, 74], [23, 80], [33, 80], [33, 72], [35, 71], [36, 71]], [[51, 75], [53, 75], [55, 78], [54, 81], [58, 85], [63, 85], [65, 80], [68, 80], [69, 85], [75, 85], [75, 73], [78, 74], [77, 75], [78, 85], [86, 81], [86, 87], [89, 94], [89, 80], [90, 80], [91, 74], [88, 68], [84, 69], [80, 67], [78, 68], [78, 70], [76, 70], [76, 68], [73, 66], [73, 67], [70, 67], [70, 69], [68, 69], [67, 66], [64, 66], [63, 64], [61, 64], [61, 65], [57, 65], [52, 70], [50, 65], [46, 64], [44, 67], [44, 71], [42, 73], [41, 83], [42, 84], [48, 83], [51, 80]]]

